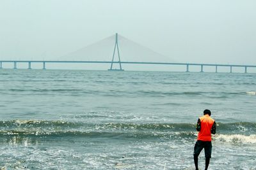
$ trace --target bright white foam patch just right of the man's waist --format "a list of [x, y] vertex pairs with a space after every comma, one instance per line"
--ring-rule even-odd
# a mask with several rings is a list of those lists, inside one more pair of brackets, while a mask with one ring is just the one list
[[216, 134], [216, 141], [228, 143], [256, 143], [256, 134], [245, 136], [243, 134]]

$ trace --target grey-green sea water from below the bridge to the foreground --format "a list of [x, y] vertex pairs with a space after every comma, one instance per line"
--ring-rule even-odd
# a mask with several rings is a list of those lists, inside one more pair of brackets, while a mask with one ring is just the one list
[[[256, 74], [0, 70], [1, 169], [256, 169]], [[199, 157], [204, 169], [204, 151]]]

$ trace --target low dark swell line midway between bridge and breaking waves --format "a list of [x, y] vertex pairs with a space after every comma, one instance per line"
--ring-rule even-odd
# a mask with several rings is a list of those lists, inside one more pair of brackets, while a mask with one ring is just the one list
[[[242, 96], [244, 92], [225, 92], [225, 91], [159, 91], [159, 90], [92, 90], [92, 89], [34, 89], [33, 87], [27, 89], [4, 89], [4, 93], [30, 93], [30, 94], [68, 94], [68, 95], [77, 95], [77, 94], [99, 94], [101, 96], [148, 96], [148, 97], [164, 97], [164, 96], [211, 96], [212, 98], [228, 98], [232, 96]], [[249, 95], [256, 95], [256, 92], [246, 92]]]

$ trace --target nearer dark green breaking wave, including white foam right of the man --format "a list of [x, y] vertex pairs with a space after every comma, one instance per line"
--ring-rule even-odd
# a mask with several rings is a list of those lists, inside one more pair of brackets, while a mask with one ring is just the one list
[[[177, 142], [193, 142], [196, 140], [196, 132], [156, 132], [156, 131], [0, 131], [2, 142], [24, 139], [86, 139], [86, 138], [106, 138], [106, 139], [143, 139], [143, 140], [171, 140]], [[212, 136], [214, 143], [230, 144], [255, 144], [256, 134], [216, 134]]]

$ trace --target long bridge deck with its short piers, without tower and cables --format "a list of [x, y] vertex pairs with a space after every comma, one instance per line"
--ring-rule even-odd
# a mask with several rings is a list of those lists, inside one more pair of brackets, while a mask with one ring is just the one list
[[74, 60], [0, 60], [0, 69], [3, 68], [4, 62], [12, 62], [13, 69], [17, 69], [18, 62], [28, 63], [28, 69], [31, 69], [31, 63], [42, 63], [43, 69], [46, 69], [46, 63], [95, 63], [95, 64], [154, 64], [154, 65], [175, 65], [186, 66], [186, 72], [189, 72], [189, 66], [200, 66], [201, 72], [204, 72], [204, 66], [214, 66], [215, 72], [218, 72], [218, 67], [230, 67], [230, 73], [232, 73], [232, 67], [244, 67], [244, 73], [247, 73], [248, 67], [256, 67], [253, 65], [241, 65], [241, 64], [199, 64], [199, 63], [180, 63], [180, 62], [134, 62], [134, 61], [74, 61]]

